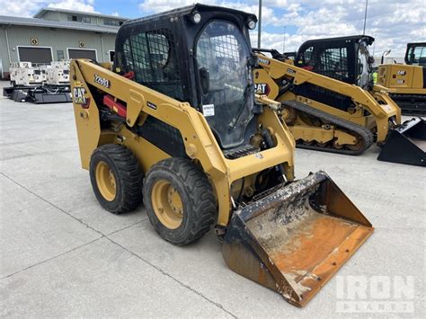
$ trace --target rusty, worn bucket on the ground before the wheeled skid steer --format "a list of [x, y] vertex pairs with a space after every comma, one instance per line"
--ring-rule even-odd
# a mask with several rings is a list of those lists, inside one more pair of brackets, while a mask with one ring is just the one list
[[318, 172], [238, 209], [222, 253], [231, 270], [305, 306], [373, 229]]

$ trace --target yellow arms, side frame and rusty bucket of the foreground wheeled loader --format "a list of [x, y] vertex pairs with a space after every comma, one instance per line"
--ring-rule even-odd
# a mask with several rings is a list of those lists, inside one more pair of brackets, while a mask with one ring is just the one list
[[[84, 168], [97, 146], [115, 143], [128, 147], [146, 172], [170, 155], [132, 128], [143, 126], [146, 117], [152, 116], [179, 129], [186, 155], [200, 164], [213, 185], [217, 229], [225, 230], [221, 236], [227, 265], [279, 292], [293, 305], [306, 305], [373, 232], [367, 218], [324, 172], [293, 181], [295, 141], [274, 110], [277, 102], [266, 96], [256, 96], [263, 104], [259, 120], [271, 132], [275, 146], [230, 160], [207, 120], [187, 102], [173, 100], [89, 60], [72, 61], [71, 85]], [[100, 123], [105, 104], [120, 118], [111, 128]], [[233, 207], [233, 182], [279, 164], [288, 182]]]

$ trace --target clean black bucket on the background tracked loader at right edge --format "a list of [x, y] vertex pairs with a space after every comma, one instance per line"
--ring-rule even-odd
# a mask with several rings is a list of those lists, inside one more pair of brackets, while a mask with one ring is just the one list
[[389, 131], [377, 160], [426, 166], [426, 121], [407, 120]]

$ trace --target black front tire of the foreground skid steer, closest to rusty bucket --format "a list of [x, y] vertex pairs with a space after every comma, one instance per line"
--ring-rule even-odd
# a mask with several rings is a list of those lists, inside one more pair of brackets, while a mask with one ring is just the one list
[[[155, 182], [165, 180], [173, 185], [182, 199], [182, 223], [176, 229], [164, 226], [156, 217], [152, 205], [152, 190]], [[149, 221], [155, 231], [166, 241], [190, 244], [209, 232], [217, 216], [216, 198], [204, 172], [184, 158], [168, 158], [155, 164], [144, 181], [144, 203]]]

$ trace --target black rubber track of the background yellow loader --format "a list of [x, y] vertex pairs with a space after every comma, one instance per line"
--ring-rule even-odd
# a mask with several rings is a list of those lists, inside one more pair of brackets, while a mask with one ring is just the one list
[[362, 140], [364, 141], [364, 147], [356, 151], [352, 151], [350, 149], [345, 149], [345, 148], [338, 149], [338, 148], [329, 147], [329, 146], [325, 146], [325, 147], [307, 146], [307, 145], [297, 143], [296, 146], [298, 148], [306, 148], [306, 149], [312, 149], [315, 151], [323, 151], [323, 152], [337, 153], [337, 154], [344, 154], [344, 155], [360, 155], [363, 152], [365, 152], [368, 149], [368, 147], [374, 143], [374, 135], [373, 133], [371, 133], [371, 131], [368, 128], [364, 128], [358, 124], [352, 123], [349, 120], [342, 120], [324, 111], [316, 110], [310, 106], [307, 106], [306, 104], [302, 102], [286, 101], [286, 102], [282, 102], [282, 104], [285, 106], [289, 106], [297, 111], [301, 111], [308, 115], [314, 116], [317, 119], [324, 120], [327, 123], [331, 123], [333, 124], [333, 126], [336, 127], [335, 129], [343, 128], [344, 131], [356, 137], [361, 137]]

